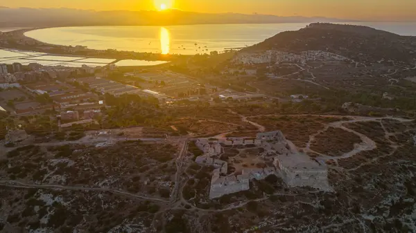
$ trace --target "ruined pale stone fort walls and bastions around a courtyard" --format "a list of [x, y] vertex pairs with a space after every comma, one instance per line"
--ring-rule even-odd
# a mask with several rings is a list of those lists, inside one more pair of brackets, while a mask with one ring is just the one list
[[[228, 175], [228, 162], [213, 157], [223, 153], [223, 146], [255, 145], [262, 147], [259, 153], [264, 160], [271, 160], [274, 167], [245, 168], [239, 175]], [[316, 189], [331, 191], [327, 179], [327, 167], [324, 163], [311, 159], [304, 153], [298, 153], [288, 145], [281, 131], [258, 133], [255, 139], [225, 138], [222, 140], [196, 140], [196, 146], [204, 154], [196, 158], [199, 165], [214, 166], [211, 178], [209, 198], [241, 192], [250, 189], [250, 180], [263, 180], [275, 175], [280, 176], [289, 187], [314, 187]]]

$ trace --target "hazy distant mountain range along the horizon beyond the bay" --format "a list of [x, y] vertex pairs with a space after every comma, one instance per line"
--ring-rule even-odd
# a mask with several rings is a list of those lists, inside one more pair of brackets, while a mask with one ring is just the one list
[[208, 14], [181, 10], [94, 11], [67, 8], [4, 8], [0, 6], [0, 27], [133, 26], [186, 24], [276, 24], [345, 22], [351, 19], [325, 17], [279, 17], [276, 15]]

